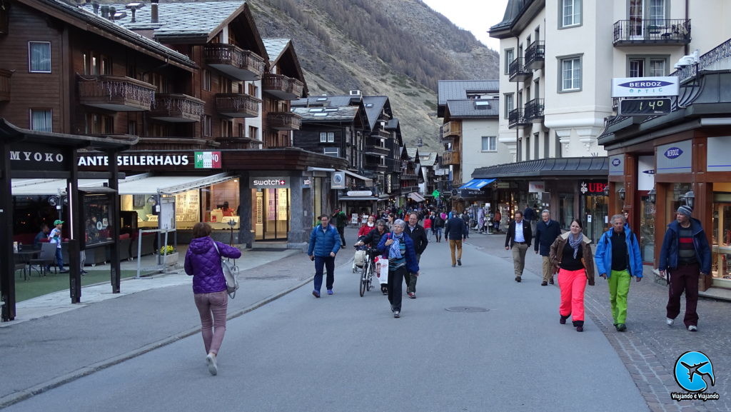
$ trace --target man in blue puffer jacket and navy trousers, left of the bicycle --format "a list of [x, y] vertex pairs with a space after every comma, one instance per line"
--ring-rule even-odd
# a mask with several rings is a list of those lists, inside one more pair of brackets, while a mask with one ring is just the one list
[[321, 224], [315, 226], [310, 233], [310, 244], [307, 247], [307, 255], [315, 262], [315, 288], [312, 296], [319, 298], [319, 291], [322, 288], [322, 266], [327, 270], [325, 288], [327, 294], [333, 294], [333, 283], [335, 283], [335, 255], [340, 250], [340, 233], [338, 229], [330, 225], [330, 216], [323, 214]]

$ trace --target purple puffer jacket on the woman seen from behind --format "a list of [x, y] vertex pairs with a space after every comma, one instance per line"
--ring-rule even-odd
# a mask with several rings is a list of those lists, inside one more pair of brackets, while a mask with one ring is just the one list
[[193, 277], [193, 293], [214, 293], [226, 290], [226, 278], [221, 269], [221, 256], [238, 259], [241, 251], [236, 247], [216, 241], [219, 252], [213, 247], [210, 236], [190, 241], [185, 254], [185, 272]]

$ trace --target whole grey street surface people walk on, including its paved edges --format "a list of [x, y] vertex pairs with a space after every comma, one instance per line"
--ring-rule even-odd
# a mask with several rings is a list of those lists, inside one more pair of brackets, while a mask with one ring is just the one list
[[[347, 231], [352, 244], [355, 229]], [[540, 258], [528, 255], [523, 282], [516, 283], [503, 243], [504, 236], [472, 234], [464, 265], [453, 269], [447, 244], [430, 244], [418, 298], [404, 299], [401, 319], [378, 291], [358, 296], [352, 248], [338, 255], [336, 294], [322, 299], [309, 293], [305, 255], [273, 255], [271, 263], [243, 272], [244, 290], [230, 314], [245, 315], [228, 325], [216, 377], [205, 367], [189, 284], [0, 328], [13, 353], [3, 362], [0, 405], [10, 405], [7, 411], [729, 410], [727, 302], [703, 299], [700, 332], [692, 334], [664, 324], [664, 286], [633, 284], [629, 330], [621, 334], [611, 325], [606, 282], [598, 279], [587, 289], [586, 331], [577, 333], [558, 324], [558, 288], [539, 285]], [[465, 307], [487, 311], [446, 310]], [[712, 392], [721, 400], [670, 399], [678, 391], [675, 359], [685, 351], [703, 351], [713, 361]]]

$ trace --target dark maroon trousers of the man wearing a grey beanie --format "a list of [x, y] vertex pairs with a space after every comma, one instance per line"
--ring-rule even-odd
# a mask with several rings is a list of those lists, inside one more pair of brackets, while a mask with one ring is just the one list
[[683, 318], [685, 326], [698, 326], [698, 278], [700, 267], [698, 263], [680, 265], [675, 269], [668, 269], [670, 273], [670, 288], [667, 288], [667, 317], [675, 319], [681, 312], [681, 295], [686, 293], [686, 315]]

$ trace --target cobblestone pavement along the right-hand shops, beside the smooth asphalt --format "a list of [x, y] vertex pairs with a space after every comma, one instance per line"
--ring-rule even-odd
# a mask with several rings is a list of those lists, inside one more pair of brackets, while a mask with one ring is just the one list
[[[505, 235], [471, 233], [468, 244], [482, 252], [507, 261], [512, 260], [510, 251], [505, 250]], [[526, 269], [523, 285], [526, 288], [548, 288], [541, 286], [541, 264], [533, 245], [526, 255]], [[598, 274], [597, 274], [598, 275]], [[684, 299], [681, 315], [675, 319], [675, 326], [665, 324], [667, 286], [655, 281], [651, 266], [645, 266], [645, 277], [632, 282], [627, 303], [627, 331], [616, 332], [610, 312], [607, 281], [596, 278], [594, 287], [586, 288], [586, 312], [602, 329], [607, 340], [618, 355], [635, 384], [642, 392], [651, 411], [731, 411], [731, 302], [701, 298], [698, 302], [698, 332], [688, 332], [683, 327]], [[512, 272], [505, 274], [505, 282], [513, 282]], [[558, 301], [556, 301], [556, 326], [558, 326]], [[670, 392], [682, 392], [675, 383], [675, 361], [686, 351], [701, 351], [713, 363], [716, 384], [706, 391], [718, 393], [719, 400], [675, 401]], [[621, 394], [618, 394], [621, 396]]]

